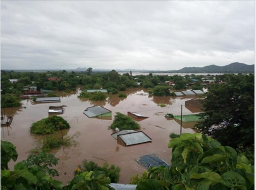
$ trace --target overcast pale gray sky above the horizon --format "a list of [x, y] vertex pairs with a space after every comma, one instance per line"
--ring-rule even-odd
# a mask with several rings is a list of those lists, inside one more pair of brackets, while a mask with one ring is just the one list
[[254, 1], [1, 1], [1, 69], [254, 64]]

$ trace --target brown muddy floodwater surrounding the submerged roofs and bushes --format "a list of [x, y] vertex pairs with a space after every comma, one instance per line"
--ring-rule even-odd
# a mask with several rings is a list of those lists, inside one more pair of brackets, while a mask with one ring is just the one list
[[[184, 103], [195, 96], [185, 99], [149, 97], [145, 90], [129, 89], [125, 91], [127, 98], [111, 95], [106, 101], [93, 102], [79, 99], [77, 97], [79, 92], [59, 93], [60, 103], [32, 104], [30, 100], [23, 100], [21, 107], [5, 108], [6, 114], [13, 117], [13, 122], [10, 127], [1, 128], [1, 139], [10, 141], [16, 146], [19, 155], [16, 163], [25, 160], [29, 151], [37, 145], [38, 136], [31, 135], [29, 132], [31, 124], [48, 117], [49, 106], [60, 105], [67, 106], [64, 113], [59, 115], [71, 126], [67, 134], [73, 136], [80, 132], [79, 137], [75, 138], [76, 144], [51, 152], [59, 159], [56, 167], [59, 176], [55, 178], [63, 184], [67, 184], [73, 178], [73, 171], [77, 165], [82, 164], [84, 159], [98, 163], [100, 166], [107, 161], [109, 164], [121, 167], [120, 183], [129, 183], [130, 176], [141, 174], [146, 170], [136, 162], [136, 159], [143, 155], [156, 154], [168, 164], [171, 163], [171, 149], [168, 148], [169, 134], [179, 134], [180, 125], [174, 120], [165, 119], [165, 114], [180, 115], [180, 105], [183, 105], [183, 115], [191, 114]], [[160, 107], [158, 104], [167, 106]], [[94, 105], [101, 105], [111, 110], [112, 120], [89, 119], [83, 114], [84, 109]], [[117, 111], [125, 115], [127, 111], [138, 112], [149, 117], [138, 123], [152, 142], [126, 147], [117, 143], [111, 136], [113, 131], [108, 130]], [[195, 131], [182, 128], [182, 132], [194, 133]], [[13, 162], [9, 164], [11, 169], [13, 165]]]

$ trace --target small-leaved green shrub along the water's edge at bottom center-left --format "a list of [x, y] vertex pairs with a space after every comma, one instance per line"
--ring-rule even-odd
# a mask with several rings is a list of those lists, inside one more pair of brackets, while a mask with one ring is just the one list
[[106, 176], [110, 178], [112, 183], [117, 183], [119, 181], [119, 172], [121, 171], [120, 167], [116, 167], [115, 165], [109, 166], [108, 163], [104, 163], [103, 167], [98, 166], [98, 164], [84, 160], [82, 165], [78, 165], [76, 170], [74, 171], [75, 174], [81, 174], [83, 172], [88, 171], [104, 171]]

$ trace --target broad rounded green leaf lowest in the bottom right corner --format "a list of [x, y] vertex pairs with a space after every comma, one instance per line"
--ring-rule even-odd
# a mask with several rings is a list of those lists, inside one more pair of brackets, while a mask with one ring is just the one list
[[221, 175], [223, 184], [226, 186], [233, 188], [233, 189], [241, 189], [241, 190], [246, 190], [246, 181], [245, 179], [238, 174], [237, 172], [234, 171], [228, 171], [226, 173], [223, 173]]

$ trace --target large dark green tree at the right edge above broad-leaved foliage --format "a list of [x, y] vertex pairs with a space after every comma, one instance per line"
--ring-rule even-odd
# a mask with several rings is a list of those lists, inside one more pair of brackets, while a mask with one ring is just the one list
[[211, 85], [198, 129], [222, 144], [254, 144], [254, 74], [230, 75], [228, 84]]

